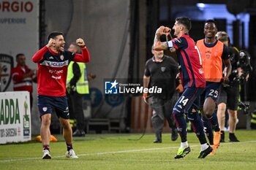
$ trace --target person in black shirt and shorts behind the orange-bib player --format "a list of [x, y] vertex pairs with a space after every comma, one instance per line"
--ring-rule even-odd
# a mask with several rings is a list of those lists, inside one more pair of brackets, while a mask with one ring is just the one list
[[229, 43], [229, 36], [225, 31], [219, 31], [216, 34], [219, 41], [223, 42], [228, 47], [228, 55], [232, 64], [232, 71], [229, 77], [229, 82], [222, 84], [220, 96], [217, 101], [218, 111], [217, 117], [219, 121], [219, 127], [222, 135], [220, 142], [225, 142], [225, 112], [228, 112], [228, 124], [229, 124], [229, 141], [239, 142], [236, 138], [236, 121], [237, 121], [237, 110], [238, 110], [238, 98], [239, 98], [239, 78], [242, 74], [241, 66], [239, 63], [239, 50], [236, 47], [232, 47]]

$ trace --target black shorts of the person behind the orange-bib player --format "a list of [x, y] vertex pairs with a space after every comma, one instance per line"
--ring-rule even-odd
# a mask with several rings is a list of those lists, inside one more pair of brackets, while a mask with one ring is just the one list
[[227, 109], [238, 110], [239, 87], [222, 87], [217, 104], [227, 104]]

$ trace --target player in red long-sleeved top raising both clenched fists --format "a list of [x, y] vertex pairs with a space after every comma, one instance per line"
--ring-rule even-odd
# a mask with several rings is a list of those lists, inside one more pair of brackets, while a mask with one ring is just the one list
[[48, 44], [32, 57], [38, 66], [38, 109], [41, 117], [40, 134], [42, 136], [42, 159], [50, 159], [50, 119], [53, 109], [63, 127], [63, 136], [67, 144], [67, 158], [78, 158], [72, 147], [72, 128], [69, 124], [69, 107], [66, 97], [67, 66], [70, 61], [87, 63], [89, 51], [83, 39], [76, 44], [82, 54], [64, 50], [64, 36], [61, 32], [52, 32]]

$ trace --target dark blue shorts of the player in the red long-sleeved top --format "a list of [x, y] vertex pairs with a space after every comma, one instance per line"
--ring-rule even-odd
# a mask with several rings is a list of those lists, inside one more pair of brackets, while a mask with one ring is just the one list
[[54, 96], [43, 96], [39, 95], [38, 98], [38, 109], [40, 117], [45, 114], [52, 114], [55, 110], [58, 117], [69, 119], [69, 107], [67, 105], [67, 97], [54, 97]]

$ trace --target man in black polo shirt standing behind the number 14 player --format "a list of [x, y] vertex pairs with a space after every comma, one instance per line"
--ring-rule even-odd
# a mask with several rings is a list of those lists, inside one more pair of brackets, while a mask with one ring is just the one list
[[[152, 48], [153, 49], [153, 48]], [[167, 119], [169, 127], [172, 130], [172, 141], [178, 138], [176, 123], [173, 120], [173, 106], [178, 99], [176, 92], [176, 75], [178, 74], [178, 63], [173, 58], [164, 55], [164, 51], [152, 50], [153, 58], [146, 62], [146, 68], [143, 77], [144, 88], [158, 87], [162, 88], [160, 94], [149, 94], [152, 96], [152, 125], [155, 131], [156, 139], [154, 143], [162, 143], [162, 129], [164, 120]], [[146, 99], [148, 93], [144, 93]], [[173, 98], [173, 99], [172, 99]]]

